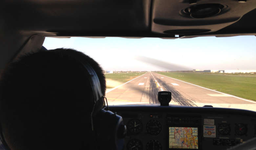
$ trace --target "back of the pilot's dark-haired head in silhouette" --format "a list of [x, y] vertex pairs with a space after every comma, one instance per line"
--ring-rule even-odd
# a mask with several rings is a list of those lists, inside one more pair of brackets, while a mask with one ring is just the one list
[[102, 68], [72, 49], [55, 49], [22, 56], [0, 80], [3, 134], [13, 150], [86, 149], [91, 137], [92, 88], [83, 57], [94, 68], [105, 95]]

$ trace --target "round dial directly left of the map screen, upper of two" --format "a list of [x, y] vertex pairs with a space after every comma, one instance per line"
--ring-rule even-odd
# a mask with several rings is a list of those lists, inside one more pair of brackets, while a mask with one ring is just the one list
[[158, 135], [162, 130], [162, 125], [157, 120], [149, 120], [146, 126], [147, 132], [151, 135]]

